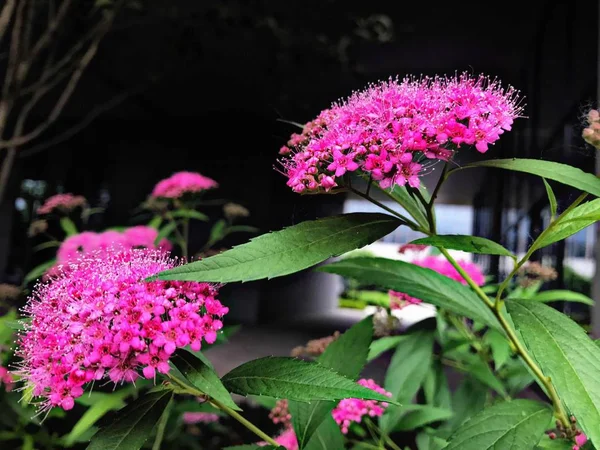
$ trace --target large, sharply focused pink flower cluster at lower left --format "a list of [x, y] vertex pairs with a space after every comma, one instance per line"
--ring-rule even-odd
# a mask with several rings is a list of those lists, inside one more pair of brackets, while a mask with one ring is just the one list
[[24, 308], [31, 321], [19, 336], [17, 373], [42, 397], [41, 409], [71, 409], [94, 380], [167, 373], [177, 348], [215, 342], [228, 312], [216, 287], [144, 281], [175, 265], [159, 250], [107, 250], [35, 287]]

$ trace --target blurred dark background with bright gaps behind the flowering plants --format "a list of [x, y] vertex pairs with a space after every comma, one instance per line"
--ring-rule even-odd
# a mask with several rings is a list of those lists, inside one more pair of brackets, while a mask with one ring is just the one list
[[[13, 3], [18, 10], [21, 2]], [[34, 251], [40, 241], [28, 229], [36, 208], [60, 192], [101, 208], [87, 222], [96, 231], [146, 223], [140, 204], [158, 180], [181, 170], [216, 180], [219, 189], [206, 198], [243, 205], [245, 223], [259, 233], [372, 210], [358, 197], [292, 193], [276, 170], [278, 150], [296, 131], [289, 122], [305, 123], [332, 101], [389, 77], [485, 73], [521, 91], [527, 118], [485, 155], [459, 153], [457, 164], [518, 156], [596, 170], [581, 131], [597, 99], [598, 2], [104, 0], [78, 2], [61, 17], [64, 3], [47, 5], [57, 23], [27, 19], [24, 9], [30, 41], [49, 41], [28, 66], [15, 65], [19, 49], [15, 56], [8, 36], [0, 41], [2, 105], [12, 108], [8, 118], [0, 108], [2, 283], [22, 284], [56, 251]], [[29, 49], [35, 56], [35, 44]], [[71, 60], [60, 65], [63, 57]], [[432, 185], [437, 176], [432, 167], [424, 181]], [[574, 198], [564, 186], [555, 189], [559, 205]], [[439, 204], [440, 232], [473, 233], [517, 253], [549, 220], [540, 181], [503, 171], [452, 178]], [[214, 201], [203, 212], [217, 217], [221, 208]], [[192, 222], [192, 247], [212, 225]], [[589, 228], [538, 252], [556, 270], [550, 287], [592, 295], [595, 233]], [[251, 236], [232, 234], [219, 248]], [[371, 251], [393, 254], [416, 237], [400, 228]], [[476, 262], [492, 278], [506, 269], [495, 257]], [[309, 337], [343, 330], [364, 315], [339, 307], [343, 289], [340, 279], [311, 271], [225, 287], [228, 321], [258, 326], [240, 331], [239, 348], [215, 349], [224, 352], [217, 366], [287, 354]], [[585, 305], [567, 312], [592, 321]], [[279, 338], [263, 339], [273, 333]]]

